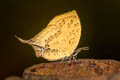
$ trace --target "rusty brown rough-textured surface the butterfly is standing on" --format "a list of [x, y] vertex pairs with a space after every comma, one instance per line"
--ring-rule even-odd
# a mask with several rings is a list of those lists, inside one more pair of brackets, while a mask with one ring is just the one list
[[23, 73], [24, 80], [120, 80], [120, 62], [78, 59], [33, 65]]

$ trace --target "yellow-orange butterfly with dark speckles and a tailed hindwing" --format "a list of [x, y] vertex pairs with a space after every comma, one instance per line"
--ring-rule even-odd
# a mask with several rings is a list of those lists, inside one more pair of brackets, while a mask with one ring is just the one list
[[[81, 37], [81, 23], [75, 10], [55, 16], [49, 24], [29, 40], [16, 36], [22, 43], [31, 45], [37, 57], [56, 61], [76, 56], [81, 50], [77, 48]], [[76, 53], [73, 55], [73, 53]]]

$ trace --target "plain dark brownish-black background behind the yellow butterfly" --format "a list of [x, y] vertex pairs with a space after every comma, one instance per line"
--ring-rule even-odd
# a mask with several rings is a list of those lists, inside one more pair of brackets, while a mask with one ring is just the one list
[[36, 58], [31, 46], [14, 35], [30, 39], [56, 15], [75, 9], [82, 23], [79, 47], [89, 46], [78, 58], [120, 61], [119, 0], [3, 0], [0, 1], [0, 79], [22, 76], [25, 68], [48, 62]]

